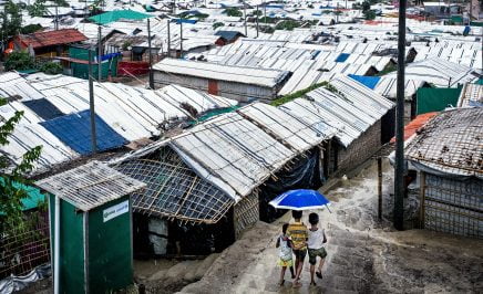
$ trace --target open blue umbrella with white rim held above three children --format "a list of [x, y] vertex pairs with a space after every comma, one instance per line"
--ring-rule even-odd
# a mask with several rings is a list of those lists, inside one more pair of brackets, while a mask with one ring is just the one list
[[[315, 190], [290, 190], [287, 191], [269, 202], [270, 206], [277, 209], [291, 209], [291, 210], [308, 210], [308, 209], [329, 209], [329, 200]], [[329, 209], [330, 211], [330, 209]]]

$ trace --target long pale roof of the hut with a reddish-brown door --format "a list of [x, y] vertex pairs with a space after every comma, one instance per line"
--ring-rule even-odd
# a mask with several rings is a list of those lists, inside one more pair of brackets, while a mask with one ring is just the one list
[[242, 84], [274, 87], [288, 72], [256, 67], [227, 66], [208, 62], [165, 59], [153, 66], [154, 70], [171, 74], [197, 76]]

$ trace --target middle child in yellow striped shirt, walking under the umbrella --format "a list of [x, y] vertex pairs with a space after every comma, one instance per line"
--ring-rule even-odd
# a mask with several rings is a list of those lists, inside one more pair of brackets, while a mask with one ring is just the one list
[[295, 280], [294, 287], [301, 286], [300, 284], [300, 274], [304, 269], [304, 260], [307, 255], [307, 239], [308, 232], [307, 227], [301, 222], [302, 212], [292, 210], [291, 217], [295, 222], [290, 223], [287, 229], [287, 235], [290, 238], [294, 244], [294, 254], [295, 254]]

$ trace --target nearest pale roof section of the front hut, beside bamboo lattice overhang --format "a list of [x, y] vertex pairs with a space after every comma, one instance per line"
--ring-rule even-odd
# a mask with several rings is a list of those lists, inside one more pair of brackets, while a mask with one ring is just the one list
[[201, 177], [236, 201], [296, 156], [236, 113], [207, 120], [175, 137], [169, 146]]

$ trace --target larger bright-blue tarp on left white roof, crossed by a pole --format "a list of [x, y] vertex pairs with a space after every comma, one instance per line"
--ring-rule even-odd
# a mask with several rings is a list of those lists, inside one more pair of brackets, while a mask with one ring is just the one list
[[[92, 153], [90, 111], [64, 115], [40, 123], [62, 143], [81, 155]], [[104, 151], [127, 144], [127, 140], [95, 115], [97, 150]]]

